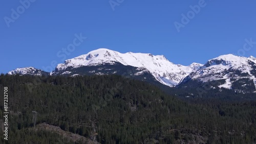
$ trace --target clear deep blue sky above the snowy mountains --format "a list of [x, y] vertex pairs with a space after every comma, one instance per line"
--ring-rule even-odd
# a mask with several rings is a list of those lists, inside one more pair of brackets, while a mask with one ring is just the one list
[[[256, 41], [253, 0], [205, 0], [204, 7], [180, 32], [174, 22], [181, 23], [181, 14], [186, 15], [189, 6], [199, 1], [124, 0], [113, 11], [109, 1], [36, 0], [18, 17], [13, 15], [17, 19], [9, 19], [9, 28], [5, 18], [12, 18], [11, 9], [22, 12], [22, 4], [1, 3], [0, 73], [27, 66], [43, 69], [54, 60], [63, 63], [57, 52], [80, 33], [87, 39], [67, 59], [104, 47], [122, 53], [164, 55], [171, 62], [189, 65], [237, 53], [246, 38]], [[256, 56], [253, 45], [244, 56]]]

